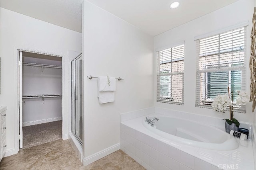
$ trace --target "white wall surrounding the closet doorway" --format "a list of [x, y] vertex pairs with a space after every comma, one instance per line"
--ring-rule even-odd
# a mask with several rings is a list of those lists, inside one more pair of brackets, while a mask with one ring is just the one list
[[82, 50], [81, 33], [72, 31], [44, 21], [36, 20], [4, 8], [0, 8], [0, 57], [1, 57], [1, 94], [0, 104], [7, 106], [6, 143], [8, 154], [18, 151], [18, 89], [17, 89], [17, 57], [16, 48], [30, 49], [61, 55], [62, 75], [62, 111], [64, 135], [68, 134], [67, 100], [68, 88], [68, 50]]

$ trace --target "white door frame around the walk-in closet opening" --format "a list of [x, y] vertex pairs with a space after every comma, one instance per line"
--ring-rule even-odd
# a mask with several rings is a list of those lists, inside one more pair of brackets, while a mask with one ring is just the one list
[[[65, 55], [63, 54], [57, 54], [54, 52], [46, 52], [46, 51], [40, 51], [37, 49], [26, 49], [26, 48], [18, 48], [14, 47], [14, 154], [18, 153], [20, 150], [20, 112], [19, 112], [19, 51], [22, 52], [28, 52], [28, 53], [35, 53], [35, 54], [42, 54], [42, 55], [50, 55], [54, 57], [61, 57], [62, 58], [62, 139], [68, 139], [66, 137], [66, 134], [64, 134], [64, 129], [68, 128], [68, 120], [66, 118], [66, 110], [64, 107], [64, 102], [67, 100], [68, 96], [64, 93], [64, 88], [66, 89], [66, 82], [65, 80]], [[64, 136], [65, 135], [65, 136]]]

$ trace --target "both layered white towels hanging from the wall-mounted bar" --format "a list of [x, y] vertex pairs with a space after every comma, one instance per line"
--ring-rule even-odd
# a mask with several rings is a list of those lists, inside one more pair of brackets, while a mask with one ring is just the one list
[[115, 101], [116, 78], [109, 76], [99, 76], [98, 78], [98, 98], [99, 103], [109, 103]]

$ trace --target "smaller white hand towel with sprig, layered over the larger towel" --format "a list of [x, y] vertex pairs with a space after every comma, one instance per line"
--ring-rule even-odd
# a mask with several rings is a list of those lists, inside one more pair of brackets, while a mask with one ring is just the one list
[[99, 92], [114, 92], [116, 91], [116, 78], [99, 76]]

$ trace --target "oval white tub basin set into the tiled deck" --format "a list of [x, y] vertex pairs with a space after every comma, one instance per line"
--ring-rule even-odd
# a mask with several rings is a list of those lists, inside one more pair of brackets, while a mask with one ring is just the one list
[[[213, 150], [234, 150], [238, 143], [234, 137], [216, 127], [167, 116], [156, 116], [154, 127], [142, 121], [144, 127], [167, 141]], [[150, 117], [152, 119], [153, 117]]]

